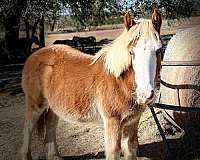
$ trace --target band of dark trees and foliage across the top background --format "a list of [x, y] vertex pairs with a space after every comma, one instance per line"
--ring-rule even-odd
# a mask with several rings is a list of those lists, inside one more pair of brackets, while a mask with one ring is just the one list
[[[14, 53], [20, 40], [27, 46], [35, 38], [45, 46], [45, 30], [90, 30], [94, 26], [121, 23], [129, 10], [134, 17], [147, 18], [158, 7], [166, 19], [197, 16], [199, 0], [1, 0], [0, 55]], [[14, 53], [16, 54], [16, 53]]]

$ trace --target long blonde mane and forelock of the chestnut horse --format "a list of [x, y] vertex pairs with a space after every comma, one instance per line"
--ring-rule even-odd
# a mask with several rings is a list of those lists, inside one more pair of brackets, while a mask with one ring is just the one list
[[140, 41], [150, 38], [158, 41], [159, 34], [154, 29], [151, 20], [138, 21], [130, 30], [124, 29], [122, 34], [111, 44], [102, 48], [94, 57], [92, 64], [99, 59], [103, 60], [106, 71], [116, 78], [131, 65], [129, 44], [139, 37]]

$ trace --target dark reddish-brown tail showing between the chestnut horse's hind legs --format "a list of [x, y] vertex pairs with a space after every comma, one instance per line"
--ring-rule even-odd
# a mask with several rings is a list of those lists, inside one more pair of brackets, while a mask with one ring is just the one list
[[37, 131], [40, 138], [45, 138], [48, 110], [45, 110], [37, 121]]

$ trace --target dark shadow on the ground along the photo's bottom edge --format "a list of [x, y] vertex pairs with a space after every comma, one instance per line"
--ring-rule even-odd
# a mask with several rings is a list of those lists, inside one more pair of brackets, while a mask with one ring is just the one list
[[[200, 149], [192, 142], [194, 137], [183, 137], [180, 139], [168, 139], [171, 150], [170, 155], [163, 145], [163, 142], [153, 142], [139, 146], [138, 157], [140, 160], [198, 160], [200, 159]], [[193, 141], [192, 140], [192, 141]], [[199, 144], [199, 143], [198, 143]], [[64, 160], [89, 160], [105, 159], [105, 152], [88, 153], [78, 156], [64, 156]]]

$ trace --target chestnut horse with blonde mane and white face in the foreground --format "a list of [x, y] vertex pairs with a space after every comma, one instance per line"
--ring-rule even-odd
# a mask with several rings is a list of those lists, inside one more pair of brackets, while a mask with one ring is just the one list
[[[26, 113], [22, 159], [31, 159], [35, 126], [45, 129], [47, 159], [62, 159], [56, 126], [62, 118], [74, 123], [102, 123], [107, 160], [136, 159], [141, 114], [156, 98], [160, 72], [157, 52], [161, 14], [135, 22], [124, 15], [124, 31], [95, 56], [66, 45], [47, 46], [25, 62], [22, 88]], [[44, 133], [44, 132], [42, 132]]]

